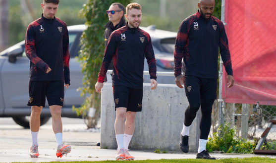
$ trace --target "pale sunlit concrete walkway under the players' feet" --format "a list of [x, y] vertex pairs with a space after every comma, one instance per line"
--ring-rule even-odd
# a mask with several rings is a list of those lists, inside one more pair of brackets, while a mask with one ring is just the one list
[[[63, 141], [65, 141], [65, 144], [71, 145], [71, 153], [63, 156], [62, 158], [56, 158], [55, 135], [52, 130], [51, 122], [48, 122], [47, 124], [41, 126], [38, 135], [40, 156], [39, 158], [30, 158], [30, 130], [23, 129], [19, 125], [14, 124], [14, 122], [8, 118], [0, 118], [0, 163], [114, 160], [116, 150], [100, 149], [100, 147], [95, 146], [97, 142], [100, 142], [99, 132], [83, 132], [83, 129], [86, 127], [86, 125], [83, 124], [83, 121], [79, 119], [64, 118], [62, 121], [64, 130]], [[65, 132], [65, 130], [67, 131]], [[76, 132], [72, 132], [72, 130], [75, 130]], [[153, 151], [130, 151], [130, 154], [136, 158], [135, 160], [195, 159], [196, 157], [195, 153], [183, 154], [179, 152], [155, 154]], [[219, 159], [256, 157], [256, 155], [237, 154], [211, 154], [211, 156]], [[261, 157], [276, 158], [276, 156]]]

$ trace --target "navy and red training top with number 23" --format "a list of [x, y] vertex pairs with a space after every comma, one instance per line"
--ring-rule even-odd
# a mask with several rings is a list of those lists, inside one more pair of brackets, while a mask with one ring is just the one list
[[181, 23], [174, 50], [174, 76], [193, 75], [218, 79], [218, 53], [228, 75], [233, 76], [228, 40], [224, 25], [212, 16], [205, 20], [199, 11]]

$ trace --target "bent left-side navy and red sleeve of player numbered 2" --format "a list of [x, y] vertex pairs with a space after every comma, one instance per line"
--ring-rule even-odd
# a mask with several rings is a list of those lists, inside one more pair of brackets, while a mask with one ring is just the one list
[[44, 73], [47, 73], [49, 66], [40, 59], [35, 50], [35, 28], [32, 24], [28, 26], [26, 39], [25, 39], [25, 52], [26, 56], [31, 60], [33, 64], [35, 64], [38, 68], [40, 68]]

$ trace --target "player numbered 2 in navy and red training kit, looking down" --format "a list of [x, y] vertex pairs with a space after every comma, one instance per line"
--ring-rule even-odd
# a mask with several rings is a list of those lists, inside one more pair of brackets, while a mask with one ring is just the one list
[[[41, 18], [27, 29], [25, 49], [30, 62], [28, 106], [32, 106], [30, 128], [32, 133], [31, 157], [38, 157], [37, 136], [40, 113], [47, 97], [52, 114], [53, 130], [57, 143], [56, 156], [62, 157], [71, 151], [62, 143], [61, 107], [64, 86], [70, 85], [69, 37], [66, 23], [55, 17], [59, 0], [43, 0]], [[65, 84], [64, 84], [65, 82]]]

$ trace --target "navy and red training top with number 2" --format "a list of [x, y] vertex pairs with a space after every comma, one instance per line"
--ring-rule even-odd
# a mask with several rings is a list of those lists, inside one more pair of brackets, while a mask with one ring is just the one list
[[[30, 81], [59, 81], [70, 84], [69, 36], [66, 23], [42, 17], [27, 29], [25, 50], [30, 63]], [[47, 69], [51, 68], [48, 74]]]

